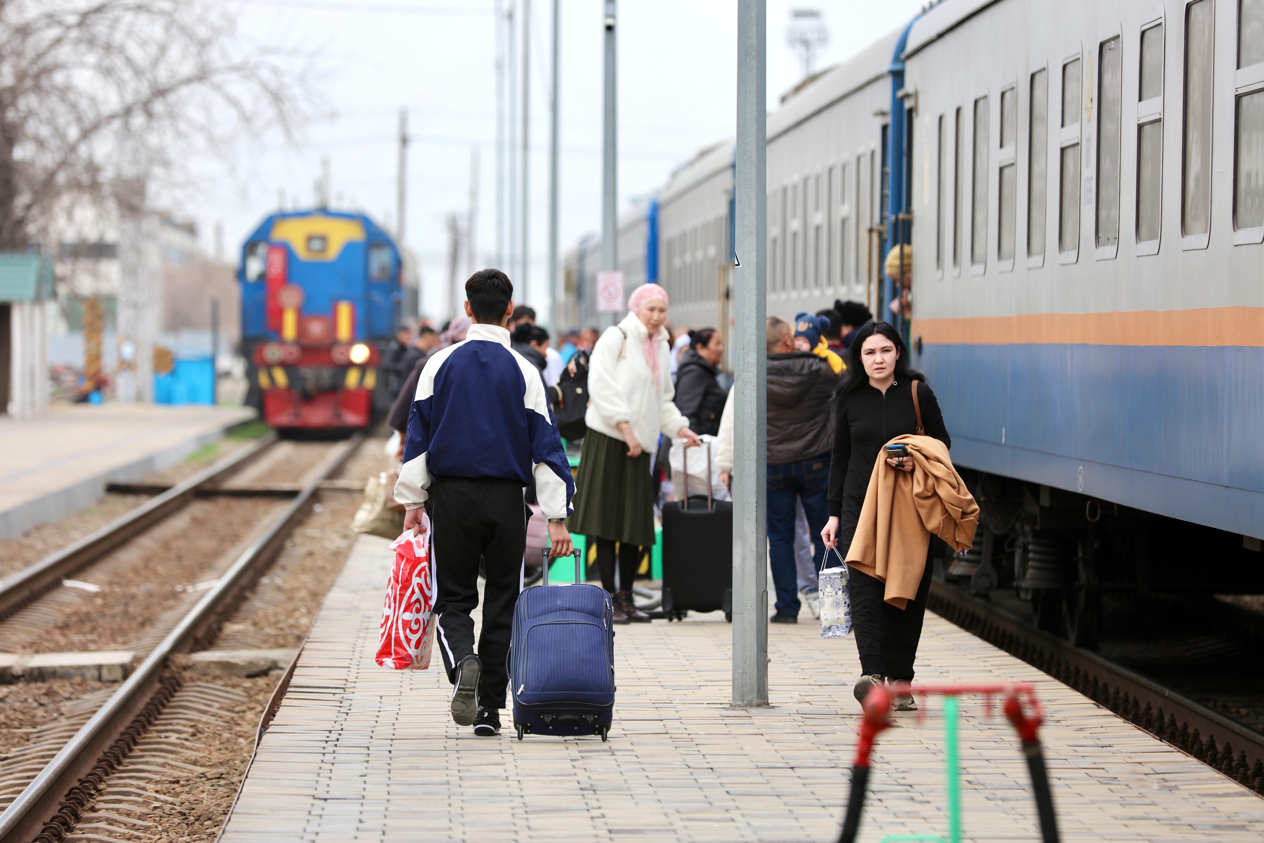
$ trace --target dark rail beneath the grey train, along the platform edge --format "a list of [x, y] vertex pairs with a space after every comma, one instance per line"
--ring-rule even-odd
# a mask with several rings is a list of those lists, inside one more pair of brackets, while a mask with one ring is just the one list
[[1018, 656], [1150, 734], [1264, 795], [1264, 734], [1172, 688], [934, 581], [930, 610]]

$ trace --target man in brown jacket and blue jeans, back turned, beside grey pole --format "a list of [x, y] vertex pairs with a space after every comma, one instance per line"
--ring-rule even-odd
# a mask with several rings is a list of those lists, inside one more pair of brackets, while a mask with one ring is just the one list
[[838, 377], [823, 358], [795, 350], [794, 331], [780, 316], [767, 320], [766, 341], [769, 561], [777, 594], [771, 621], [798, 623], [795, 500], [803, 502], [809, 535], [819, 536], [829, 519], [829, 452], [834, 444], [830, 396]]

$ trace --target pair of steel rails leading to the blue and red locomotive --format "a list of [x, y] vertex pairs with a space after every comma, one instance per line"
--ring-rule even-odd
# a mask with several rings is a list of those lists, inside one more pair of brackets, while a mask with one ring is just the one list
[[[214, 703], [214, 688], [185, 684], [174, 661], [178, 653], [205, 648], [220, 632], [220, 624], [241, 603], [243, 597], [258, 580], [282, 547], [297, 523], [315, 504], [315, 495], [330, 476], [356, 450], [363, 436], [334, 446], [320, 461], [306, 470], [300, 484], [278, 484], [263, 492], [267, 495], [287, 494], [293, 499], [249, 545], [231, 561], [219, 578], [210, 584], [196, 604], [174, 619], [169, 631], [144, 655], [139, 666], [99, 708], [95, 699], [81, 700], [77, 717], [67, 722], [37, 729], [42, 746], [59, 747], [56, 755], [37, 770], [28, 770], [30, 782], [0, 814], [0, 843], [30, 839], [61, 840], [81, 820], [101, 784], [123, 763], [130, 753], [148, 751], [145, 733], [162, 718], [172, 717], [171, 707], [182, 709], [177, 719], [205, 714]], [[0, 583], [0, 618], [10, 617], [29, 605], [62, 579], [78, 573], [102, 559], [111, 550], [139, 536], [164, 518], [178, 512], [192, 498], [216, 492], [245, 494], [224, 480], [249, 460], [273, 446], [270, 437], [252, 445], [231, 458], [211, 466], [171, 489], [163, 490], [114, 523], [53, 554], [32, 567]], [[245, 485], [245, 484], [243, 484]], [[278, 488], [286, 485], [289, 488]], [[334, 487], [341, 488], [337, 482]], [[200, 699], [205, 696], [206, 700]], [[228, 698], [224, 698], [228, 699]], [[91, 712], [88, 714], [88, 712]], [[86, 719], [85, 719], [86, 717]], [[78, 723], [77, 728], [73, 725]], [[168, 724], [169, 725], [169, 724]], [[164, 734], [169, 731], [163, 725]], [[178, 725], [178, 724], [177, 724]], [[73, 728], [73, 734], [68, 732]], [[172, 725], [176, 728], [176, 725]], [[16, 753], [15, 753], [16, 755]], [[47, 753], [46, 753], [47, 755]], [[32, 757], [39, 757], [38, 753]], [[32, 757], [27, 765], [33, 767]], [[20, 775], [20, 771], [16, 771]], [[121, 796], [120, 799], [129, 799]], [[88, 829], [90, 830], [90, 829]]]

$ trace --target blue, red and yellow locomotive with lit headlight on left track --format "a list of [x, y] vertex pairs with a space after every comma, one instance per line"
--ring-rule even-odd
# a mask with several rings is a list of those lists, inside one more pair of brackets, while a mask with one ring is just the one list
[[364, 428], [393, 398], [378, 377], [404, 307], [394, 241], [363, 214], [273, 214], [238, 269], [249, 401], [277, 428]]

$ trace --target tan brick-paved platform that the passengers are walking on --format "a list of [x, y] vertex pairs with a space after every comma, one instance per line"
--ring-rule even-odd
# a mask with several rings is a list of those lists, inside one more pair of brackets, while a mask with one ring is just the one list
[[[852, 640], [804, 610], [769, 629], [771, 707], [728, 708], [719, 613], [618, 627], [609, 743], [478, 738], [437, 666], [373, 664], [386, 540], [360, 537], [325, 599], [228, 823], [248, 840], [836, 840], [860, 708]], [[435, 653], [437, 662], [437, 653]], [[1063, 840], [1259, 840], [1264, 800], [1001, 650], [928, 614], [919, 680], [1031, 682]], [[861, 838], [943, 834], [943, 718], [878, 739]], [[964, 839], [1039, 839], [1014, 731], [961, 703]], [[506, 712], [506, 714], [508, 714]]]

